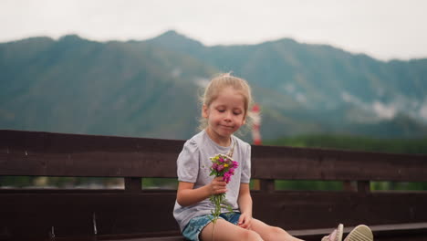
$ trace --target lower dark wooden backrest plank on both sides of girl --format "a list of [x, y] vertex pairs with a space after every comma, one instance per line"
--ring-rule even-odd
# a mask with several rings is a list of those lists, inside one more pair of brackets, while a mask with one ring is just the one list
[[[175, 192], [1, 194], [0, 230], [25, 238], [179, 232]], [[427, 193], [254, 192], [254, 217], [286, 230], [427, 222]], [[25, 232], [24, 232], [25, 230]]]

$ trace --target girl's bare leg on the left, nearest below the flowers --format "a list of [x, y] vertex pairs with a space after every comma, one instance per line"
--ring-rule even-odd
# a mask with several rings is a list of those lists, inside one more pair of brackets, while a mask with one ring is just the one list
[[202, 229], [200, 235], [203, 241], [232, 241], [232, 240], [248, 240], [248, 241], [263, 241], [261, 236], [252, 230], [234, 225], [223, 219], [216, 220], [213, 226], [211, 222]]

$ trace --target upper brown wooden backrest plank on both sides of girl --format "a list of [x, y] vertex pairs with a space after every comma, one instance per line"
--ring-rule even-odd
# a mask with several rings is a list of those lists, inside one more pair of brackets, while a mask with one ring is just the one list
[[[183, 142], [0, 131], [0, 175], [176, 177]], [[252, 156], [259, 179], [427, 181], [427, 155], [253, 146]]]

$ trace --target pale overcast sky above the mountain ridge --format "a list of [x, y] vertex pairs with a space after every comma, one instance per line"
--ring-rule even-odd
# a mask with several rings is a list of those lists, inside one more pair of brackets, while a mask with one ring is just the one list
[[143, 40], [177, 32], [204, 45], [291, 37], [373, 58], [427, 58], [424, 0], [0, 0], [0, 42], [78, 34]]

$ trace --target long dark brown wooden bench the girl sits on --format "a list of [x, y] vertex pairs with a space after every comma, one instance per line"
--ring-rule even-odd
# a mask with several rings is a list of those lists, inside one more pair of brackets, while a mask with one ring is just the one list
[[[0, 189], [0, 240], [183, 240], [175, 190], [184, 141], [0, 131], [0, 175], [122, 177], [121, 190]], [[371, 192], [370, 181], [427, 182], [427, 156], [253, 146], [254, 216], [305, 240], [338, 223], [370, 225], [375, 240], [427, 240], [427, 192]], [[343, 191], [278, 191], [275, 180], [344, 182]]]

